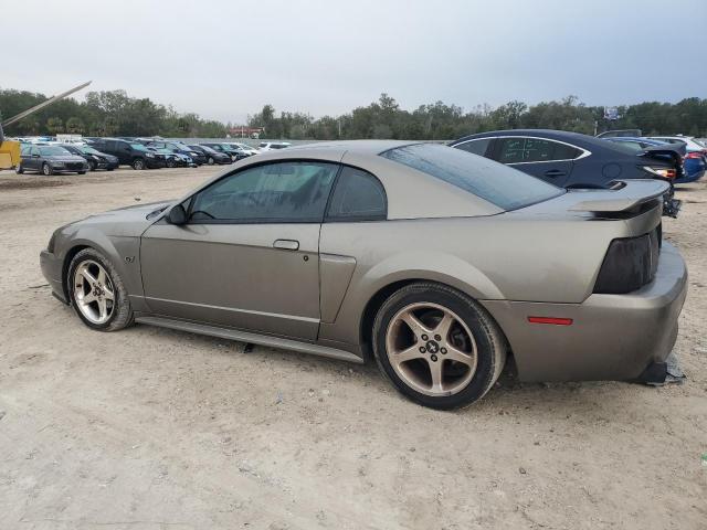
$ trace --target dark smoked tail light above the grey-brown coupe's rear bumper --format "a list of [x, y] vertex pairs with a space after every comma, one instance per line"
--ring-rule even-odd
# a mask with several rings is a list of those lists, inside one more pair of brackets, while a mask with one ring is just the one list
[[653, 282], [661, 252], [661, 226], [639, 237], [613, 240], [599, 271], [594, 293], [621, 295]]

